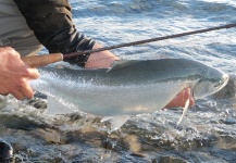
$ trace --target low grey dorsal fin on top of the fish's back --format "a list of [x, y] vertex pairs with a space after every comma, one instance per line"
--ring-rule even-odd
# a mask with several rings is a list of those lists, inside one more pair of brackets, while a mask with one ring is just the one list
[[133, 64], [136, 64], [137, 62], [139, 62], [138, 60], [119, 60], [112, 63], [111, 67], [107, 71], [108, 72], [113, 72], [126, 66], [131, 66]]

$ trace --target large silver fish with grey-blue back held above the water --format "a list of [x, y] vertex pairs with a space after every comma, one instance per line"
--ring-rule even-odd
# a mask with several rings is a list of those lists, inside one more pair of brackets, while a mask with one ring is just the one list
[[226, 73], [189, 59], [119, 60], [109, 68], [45, 66], [39, 72], [40, 78], [30, 83], [34, 89], [102, 121], [119, 122], [113, 129], [132, 115], [163, 109], [186, 87], [196, 100], [228, 82]]

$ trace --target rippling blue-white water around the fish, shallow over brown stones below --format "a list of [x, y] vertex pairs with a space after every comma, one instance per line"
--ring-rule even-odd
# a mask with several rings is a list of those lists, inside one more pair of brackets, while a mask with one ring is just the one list
[[[233, 0], [70, 2], [77, 29], [104, 47], [236, 22]], [[235, 74], [235, 45], [231, 28], [112, 52], [123, 59], [195, 59]], [[101, 117], [66, 113], [73, 108], [66, 101], [51, 112], [12, 98], [1, 104], [0, 136], [17, 162], [236, 162], [235, 96], [196, 101], [179, 126], [181, 110], [161, 110], [132, 117], [111, 135]]]

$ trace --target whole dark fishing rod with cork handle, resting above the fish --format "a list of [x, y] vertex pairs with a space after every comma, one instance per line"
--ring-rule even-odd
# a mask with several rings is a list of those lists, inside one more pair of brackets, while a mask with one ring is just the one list
[[170, 35], [170, 36], [163, 36], [163, 37], [157, 37], [157, 38], [145, 39], [145, 40], [139, 40], [139, 41], [133, 41], [133, 42], [127, 42], [127, 43], [121, 43], [121, 45], [111, 46], [111, 47], [104, 47], [104, 48], [91, 49], [91, 50], [86, 50], [86, 51], [66, 53], [66, 54], [50, 53], [50, 54], [42, 54], [42, 55], [35, 55], [35, 57], [23, 57], [22, 60], [32, 67], [39, 67], [42, 65], [48, 65], [51, 63], [60, 62], [60, 61], [63, 61], [65, 59], [74, 58], [74, 57], [78, 57], [78, 55], [86, 55], [86, 54], [105, 51], [105, 50], [112, 50], [112, 49], [124, 48], [124, 47], [132, 47], [132, 46], [153, 42], [153, 41], [166, 40], [166, 39], [171, 39], [171, 38], [184, 37], [184, 36], [201, 34], [201, 33], [207, 33], [207, 32], [212, 32], [212, 30], [220, 30], [220, 29], [232, 28], [232, 27], [236, 27], [236, 23], [226, 24], [226, 25], [216, 26], [216, 27], [211, 27], [211, 28], [199, 29], [199, 30], [186, 32], [186, 33], [181, 33], [181, 34], [174, 34], [174, 35]]

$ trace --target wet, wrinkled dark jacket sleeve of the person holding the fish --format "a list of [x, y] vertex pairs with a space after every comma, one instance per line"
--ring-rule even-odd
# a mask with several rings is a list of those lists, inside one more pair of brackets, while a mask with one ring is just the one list
[[[36, 38], [50, 53], [90, 50], [95, 40], [76, 30], [67, 0], [14, 0]], [[89, 54], [66, 59], [84, 66]]]

